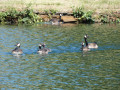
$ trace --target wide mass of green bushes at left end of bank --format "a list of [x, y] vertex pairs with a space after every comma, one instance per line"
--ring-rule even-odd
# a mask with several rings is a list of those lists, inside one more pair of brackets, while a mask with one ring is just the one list
[[1, 23], [38, 23], [42, 19], [39, 15], [34, 13], [32, 9], [26, 8], [23, 11], [17, 11], [16, 9], [10, 9], [6, 12], [0, 12], [0, 22]]

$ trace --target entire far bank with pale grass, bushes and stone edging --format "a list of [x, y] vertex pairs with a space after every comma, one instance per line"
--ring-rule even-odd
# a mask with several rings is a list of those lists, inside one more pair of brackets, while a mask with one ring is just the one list
[[0, 8], [1, 23], [46, 22], [60, 13], [63, 22], [120, 22], [119, 0], [1, 0]]

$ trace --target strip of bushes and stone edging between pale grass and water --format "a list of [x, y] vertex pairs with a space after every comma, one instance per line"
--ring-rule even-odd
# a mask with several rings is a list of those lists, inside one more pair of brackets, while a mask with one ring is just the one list
[[[49, 22], [50, 19], [56, 18], [59, 19], [59, 15], [62, 14], [62, 22], [64, 23], [120, 23], [120, 12], [112, 12], [110, 14], [106, 13], [92, 13], [75, 17], [74, 13], [63, 13], [63, 12], [54, 12], [54, 13], [46, 13], [46, 12], [34, 12], [32, 9], [26, 9], [29, 13], [28, 15], [24, 15], [26, 11], [6, 11], [0, 12], [0, 23], [6, 24], [16, 24], [16, 23], [38, 23], [38, 22]], [[77, 12], [77, 11], [76, 11]], [[80, 11], [81, 12], [81, 11]], [[8, 15], [7, 15], [7, 14]], [[21, 13], [21, 15], [19, 15]], [[83, 12], [84, 13], [84, 12]], [[6, 14], [6, 15], [5, 15]], [[29, 15], [31, 14], [31, 16]], [[2, 16], [3, 15], [3, 16]], [[5, 15], [5, 16], [4, 16]], [[24, 17], [26, 16], [26, 17]]]

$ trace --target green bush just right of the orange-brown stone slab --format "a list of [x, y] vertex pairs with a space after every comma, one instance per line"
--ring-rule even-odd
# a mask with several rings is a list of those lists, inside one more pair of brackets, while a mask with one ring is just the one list
[[82, 23], [91, 23], [94, 22], [92, 18], [92, 11], [85, 12], [83, 8], [73, 8], [73, 15], [75, 18], [78, 18], [79, 22]]

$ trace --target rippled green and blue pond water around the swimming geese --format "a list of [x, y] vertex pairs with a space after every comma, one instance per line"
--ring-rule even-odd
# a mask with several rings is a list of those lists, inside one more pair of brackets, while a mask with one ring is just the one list
[[[82, 52], [81, 42], [99, 48]], [[21, 43], [24, 54], [11, 51]], [[37, 54], [39, 43], [52, 52]], [[1, 90], [118, 90], [120, 88], [120, 25], [0, 25]]]

